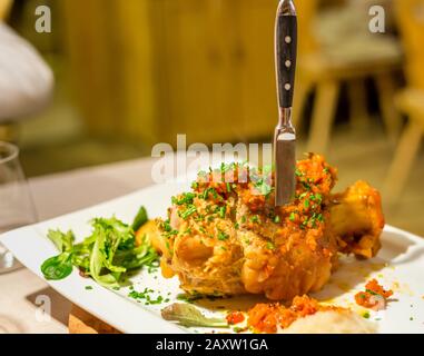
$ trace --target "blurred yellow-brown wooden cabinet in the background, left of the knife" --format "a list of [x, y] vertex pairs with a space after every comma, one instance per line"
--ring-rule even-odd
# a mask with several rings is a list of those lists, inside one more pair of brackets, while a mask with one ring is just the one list
[[272, 135], [275, 1], [61, 3], [91, 130], [149, 144]]

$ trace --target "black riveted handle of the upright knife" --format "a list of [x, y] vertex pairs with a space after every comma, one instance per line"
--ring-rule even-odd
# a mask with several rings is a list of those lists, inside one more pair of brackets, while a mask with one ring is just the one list
[[275, 31], [278, 105], [290, 108], [297, 60], [297, 17], [292, 0], [280, 1]]

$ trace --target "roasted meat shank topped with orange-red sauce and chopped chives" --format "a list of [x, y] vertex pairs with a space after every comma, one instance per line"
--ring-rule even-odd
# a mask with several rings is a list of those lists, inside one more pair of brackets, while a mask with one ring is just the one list
[[172, 198], [151, 240], [164, 276], [190, 294], [264, 294], [273, 300], [319, 290], [338, 253], [375, 256], [384, 227], [379, 194], [358, 181], [332, 194], [336, 169], [322, 156], [297, 162], [293, 202], [274, 206], [273, 174], [245, 165], [200, 172]]

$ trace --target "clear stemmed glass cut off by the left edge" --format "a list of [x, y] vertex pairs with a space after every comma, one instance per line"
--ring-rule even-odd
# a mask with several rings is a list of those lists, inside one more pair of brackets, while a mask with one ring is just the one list
[[[36, 207], [19, 161], [19, 149], [0, 141], [0, 234], [36, 221]], [[0, 244], [0, 274], [20, 267]]]

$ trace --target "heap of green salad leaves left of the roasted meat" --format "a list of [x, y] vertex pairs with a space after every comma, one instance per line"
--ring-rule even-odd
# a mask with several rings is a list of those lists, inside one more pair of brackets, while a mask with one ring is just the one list
[[98, 284], [118, 288], [126, 273], [158, 266], [159, 256], [146, 237], [136, 246], [135, 231], [147, 221], [145, 207], [139, 209], [131, 226], [116, 217], [95, 218], [90, 221], [92, 234], [79, 244], [75, 244], [72, 231], [49, 230], [48, 238], [60, 254], [47, 259], [41, 271], [46, 279], [58, 280], [68, 277], [76, 266]]

